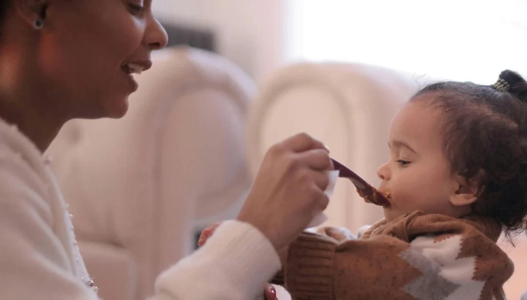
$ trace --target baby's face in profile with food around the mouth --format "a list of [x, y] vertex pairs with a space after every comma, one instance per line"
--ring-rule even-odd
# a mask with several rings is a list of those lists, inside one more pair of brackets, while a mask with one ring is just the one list
[[442, 114], [426, 105], [409, 102], [397, 113], [390, 129], [390, 158], [379, 167], [379, 190], [391, 193], [384, 208], [388, 221], [416, 210], [456, 217], [450, 202], [460, 188], [444, 155]]

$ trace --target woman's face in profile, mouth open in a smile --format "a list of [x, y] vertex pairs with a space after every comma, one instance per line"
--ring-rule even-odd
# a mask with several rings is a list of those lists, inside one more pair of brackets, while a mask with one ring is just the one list
[[149, 69], [152, 50], [167, 45], [152, 0], [42, 2], [37, 63], [46, 90], [70, 118], [122, 117], [138, 88], [130, 72]]

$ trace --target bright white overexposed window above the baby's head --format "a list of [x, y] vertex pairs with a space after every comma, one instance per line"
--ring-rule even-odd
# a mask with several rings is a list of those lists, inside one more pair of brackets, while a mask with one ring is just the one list
[[286, 59], [490, 84], [527, 74], [525, 0], [286, 0]]

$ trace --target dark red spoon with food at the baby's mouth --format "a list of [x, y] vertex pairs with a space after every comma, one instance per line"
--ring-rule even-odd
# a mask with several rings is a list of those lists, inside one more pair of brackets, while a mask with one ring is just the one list
[[360, 176], [358, 176], [354, 171], [344, 166], [344, 164], [341, 164], [333, 158], [331, 160], [333, 161], [335, 170], [339, 170], [338, 177], [351, 180], [353, 185], [357, 188], [359, 196], [362, 197], [366, 202], [383, 207], [390, 206], [390, 201], [388, 201], [389, 194], [378, 191], [376, 188], [369, 185], [369, 183], [364, 179], [360, 178]]

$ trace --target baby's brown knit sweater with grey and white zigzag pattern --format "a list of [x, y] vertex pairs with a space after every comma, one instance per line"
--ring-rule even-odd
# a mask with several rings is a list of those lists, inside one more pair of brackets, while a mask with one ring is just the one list
[[422, 212], [379, 221], [358, 239], [323, 228], [289, 246], [273, 283], [294, 300], [503, 300], [513, 264], [496, 245], [500, 233], [490, 218]]

